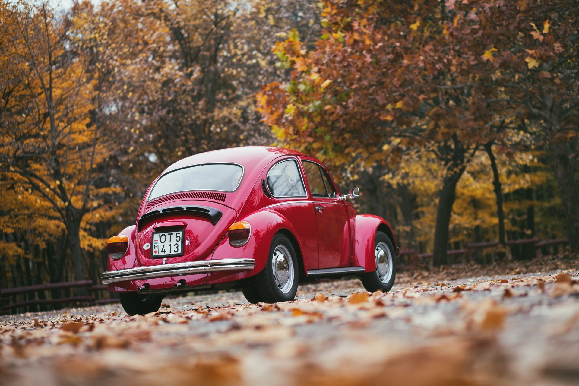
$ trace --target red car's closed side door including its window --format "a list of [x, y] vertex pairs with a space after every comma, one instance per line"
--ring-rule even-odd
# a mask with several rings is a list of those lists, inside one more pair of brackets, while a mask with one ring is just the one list
[[323, 166], [307, 159], [302, 159], [302, 166], [316, 209], [318, 266], [320, 269], [346, 266], [350, 253], [346, 207]]

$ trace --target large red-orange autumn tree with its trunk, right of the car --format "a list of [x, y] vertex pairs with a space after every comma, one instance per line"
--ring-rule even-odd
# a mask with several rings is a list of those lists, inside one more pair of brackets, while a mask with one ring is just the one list
[[[291, 77], [265, 86], [258, 105], [278, 137], [338, 164], [358, 152], [368, 165], [395, 164], [414, 148], [433, 153], [445, 170], [434, 236], [434, 263], [444, 264], [468, 163], [489, 139], [507, 135], [501, 125], [529, 116], [509, 93], [540, 79], [537, 51], [529, 50], [542, 41], [528, 32], [545, 15], [555, 19], [549, 9], [563, 12], [565, 2], [325, 1], [316, 47], [305, 50], [296, 33], [279, 42], [275, 52]], [[571, 47], [573, 12], [541, 53]]]

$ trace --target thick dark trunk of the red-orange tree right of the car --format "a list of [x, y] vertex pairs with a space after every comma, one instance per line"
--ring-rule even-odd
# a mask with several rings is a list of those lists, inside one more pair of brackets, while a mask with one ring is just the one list
[[434, 229], [434, 266], [448, 264], [446, 248], [448, 247], [450, 215], [456, 198], [456, 185], [464, 173], [464, 166], [446, 175], [439, 193], [436, 226]]

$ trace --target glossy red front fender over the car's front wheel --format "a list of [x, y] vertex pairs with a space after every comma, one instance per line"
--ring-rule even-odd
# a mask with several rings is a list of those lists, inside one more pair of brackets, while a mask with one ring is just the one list
[[376, 270], [374, 247], [376, 244], [376, 232], [383, 231], [397, 251], [396, 238], [390, 224], [382, 217], [375, 215], [357, 215], [354, 218], [354, 266], [364, 267], [366, 272]]

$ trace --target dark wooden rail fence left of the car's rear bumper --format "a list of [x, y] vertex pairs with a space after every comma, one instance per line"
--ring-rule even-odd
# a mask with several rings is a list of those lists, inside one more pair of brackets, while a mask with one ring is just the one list
[[106, 285], [93, 285], [91, 280], [0, 288], [0, 314], [54, 310], [75, 303], [96, 305], [119, 301], [109, 298], [103, 291], [107, 291]]

